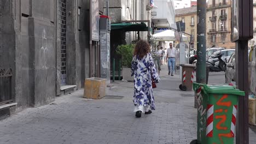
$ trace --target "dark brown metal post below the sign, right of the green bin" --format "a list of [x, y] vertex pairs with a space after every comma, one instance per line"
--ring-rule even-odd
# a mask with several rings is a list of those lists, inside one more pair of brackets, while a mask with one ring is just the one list
[[248, 40], [236, 42], [236, 68], [236, 85], [246, 93], [245, 97], [238, 98], [236, 143], [248, 144]]

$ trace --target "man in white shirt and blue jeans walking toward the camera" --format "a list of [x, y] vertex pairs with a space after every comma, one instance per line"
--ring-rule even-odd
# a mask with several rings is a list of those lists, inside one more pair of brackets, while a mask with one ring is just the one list
[[168, 48], [166, 52], [166, 61], [168, 62], [168, 70], [169, 70], [168, 75], [171, 74], [171, 76], [173, 76], [174, 68], [175, 68], [176, 49], [172, 47], [172, 43], [170, 43], [169, 45], [170, 45], [170, 48]]

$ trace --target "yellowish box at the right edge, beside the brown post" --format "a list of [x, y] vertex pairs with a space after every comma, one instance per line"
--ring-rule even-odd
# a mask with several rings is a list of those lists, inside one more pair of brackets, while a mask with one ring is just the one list
[[256, 125], [256, 99], [249, 98], [249, 124]]

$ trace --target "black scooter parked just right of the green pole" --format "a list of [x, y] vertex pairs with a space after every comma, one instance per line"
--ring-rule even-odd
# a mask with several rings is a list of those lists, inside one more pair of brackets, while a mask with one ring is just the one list
[[222, 57], [222, 52], [219, 51], [216, 55], [212, 56], [211, 61], [206, 62], [206, 66], [210, 67], [210, 71], [225, 71], [226, 70], [226, 59]]

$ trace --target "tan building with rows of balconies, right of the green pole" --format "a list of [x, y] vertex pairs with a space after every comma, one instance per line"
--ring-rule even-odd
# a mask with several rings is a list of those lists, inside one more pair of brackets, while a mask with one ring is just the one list
[[206, 13], [206, 46], [234, 49], [231, 42], [231, 0], [209, 0]]

